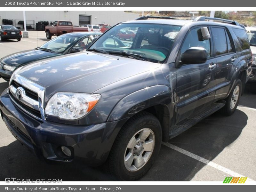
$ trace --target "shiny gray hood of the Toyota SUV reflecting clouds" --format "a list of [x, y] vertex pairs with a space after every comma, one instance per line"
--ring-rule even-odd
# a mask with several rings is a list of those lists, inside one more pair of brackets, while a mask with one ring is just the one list
[[127, 57], [80, 52], [32, 63], [18, 74], [45, 87], [47, 100], [55, 92], [92, 93], [159, 66], [161, 64]]

